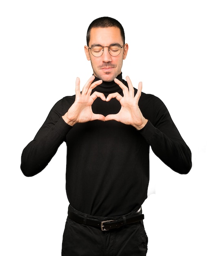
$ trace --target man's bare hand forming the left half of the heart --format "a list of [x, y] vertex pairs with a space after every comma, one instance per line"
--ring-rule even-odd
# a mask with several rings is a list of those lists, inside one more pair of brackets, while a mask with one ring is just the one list
[[64, 116], [62, 116], [64, 121], [70, 126], [73, 126], [76, 123], [85, 123], [93, 120], [105, 121], [105, 117], [103, 115], [94, 114], [92, 112], [91, 105], [98, 97], [100, 97], [102, 101], [106, 100], [104, 94], [101, 92], [94, 92], [93, 94], [91, 94], [93, 88], [102, 83], [102, 80], [92, 83], [94, 79], [95, 76], [91, 76], [91, 78], [84, 85], [82, 92], [80, 92], [80, 79], [77, 77], [76, 100], [73, 103], [73, 105], [69, 108], [67, 113], [65, 113]]

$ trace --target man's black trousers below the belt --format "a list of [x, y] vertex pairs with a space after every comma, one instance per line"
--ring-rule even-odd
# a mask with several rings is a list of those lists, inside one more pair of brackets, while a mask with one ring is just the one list
[[148, 238], [143, 221], [102, 231], [67, 218], [62, 256], [146, 256]]

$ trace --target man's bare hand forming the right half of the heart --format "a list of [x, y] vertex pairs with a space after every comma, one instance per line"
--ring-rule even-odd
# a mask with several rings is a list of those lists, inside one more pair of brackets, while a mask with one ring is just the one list
[[125, 86], [118, 79], [114, 79], [115, 83], [117, 83], [120, 88], [122, 88], [124, 96], [122, 97], [118, 92], [108, 95], [106, 101], [110, 101], [112, 98], [116, 98], [121, 104], [121, 109], [118, 114], [107, 115], [105, 117], [105, 121], [115, 120], [123, 124], [132, 125], [137, 130], [140, 130], [144, 128], [148, 121], [143, 117], [142, 112], [138, 106], [138, 101], [141, 97], [142, 82], [138, 84], [138, 92], [134, 96], [134, 88], [131, 80], [129, 79], [129, 76], [126, 77], [126, 80], [129, 88], [127, 88], [127, 86]]

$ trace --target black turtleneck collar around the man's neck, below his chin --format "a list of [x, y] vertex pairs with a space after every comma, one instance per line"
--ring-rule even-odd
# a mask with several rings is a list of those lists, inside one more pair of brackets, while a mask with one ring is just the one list
[[[122, 73], [120, 73], [117, 76], [117, 79], [120, 80], [122, 83], [124, 83], [124, 85], [127, 86], [127, 82], [122, 79]], [[98, 77], [96, 77], [94, 79], [94, 81], [98, 81], [98, 80], [100, 80]], [[113, 93], [113, 92], [120, 93], [120, 92], [122, 92], [122, 89], [114, 81], [111, 81], [111, 82], [104, 82], [103, 81], [100, 85], [98, 85], [96, 88], [94, 88], [92, 90], [92, 92], [95, 92], [95, 91], [102, 92], [104, 94], [110, 94], [110, 93]]]

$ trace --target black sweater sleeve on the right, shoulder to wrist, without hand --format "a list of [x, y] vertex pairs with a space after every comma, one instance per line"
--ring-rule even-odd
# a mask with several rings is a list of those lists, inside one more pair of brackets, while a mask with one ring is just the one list
[[164, 103], [153, 97], [151, 118], [140, 130], [155, 155], [173, 171], [187, 174], [192, 166], [191, 150], [182, 139]]

